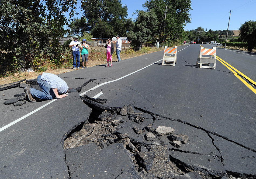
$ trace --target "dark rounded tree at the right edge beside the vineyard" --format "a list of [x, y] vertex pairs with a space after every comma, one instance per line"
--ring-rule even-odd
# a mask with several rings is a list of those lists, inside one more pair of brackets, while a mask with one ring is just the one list
[[251, 52], [256, 46], [256, 21], [246, 21], [239, 30], [243, 41], [248, 43], [248, 52]]

